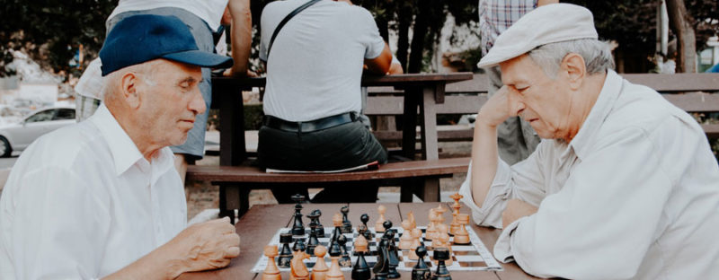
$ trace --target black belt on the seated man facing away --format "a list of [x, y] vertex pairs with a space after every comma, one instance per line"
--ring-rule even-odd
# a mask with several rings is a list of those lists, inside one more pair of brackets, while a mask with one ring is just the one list
[[288, 121], [282, 118], [272, 117], [269, 115], [264, 116], [262, 124], [265, 127], [271, 127], [280, 129], [288, 132], [312, 132], [330, 127], [337, 127], [346, 123], [351, 123], [358, 119], [357, 113], [349, 112], [340, 115], [335, 115], [327, 118], [318, 118], [310, 121]]

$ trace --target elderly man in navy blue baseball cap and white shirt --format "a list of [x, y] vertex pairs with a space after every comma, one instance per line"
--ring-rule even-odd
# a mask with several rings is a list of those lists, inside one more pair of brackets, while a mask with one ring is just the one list
[[168, 146], [182, 144], [205, 102], [198, 50], [173, 16], [119, 22], [100, 51], [105, 101], [87, 121], [40, 137], [0, 199], [2, 279], [164, 279], [225, 267], [239, 254], [228, 219], [186, 228]]

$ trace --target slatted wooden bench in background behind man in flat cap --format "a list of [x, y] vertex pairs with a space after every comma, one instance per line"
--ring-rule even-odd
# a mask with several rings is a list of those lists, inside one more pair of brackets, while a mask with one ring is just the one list
[[[661, 92], [668, 101], [689, 113], [719, 112], [719, 74], [622, 74], [631, 83], [644, 84]], [[488, 83], [484, 74], [474, 79], [448, 84], [444, 103], [434, 108], [438, 115], [475, 114], [487, 101]], [[402, 97], [392, 96], [392, 88], [370, 89], [365, 114], [368, 116], [399, 116], [403, 113]], [[709, 139], [719, 138], [719, 124], [702, 124]], [[383, 142], [401, 138], [400, 131], [376, 130]], [[437, 132], [439, 141], [471, 141], [471, 126]]]

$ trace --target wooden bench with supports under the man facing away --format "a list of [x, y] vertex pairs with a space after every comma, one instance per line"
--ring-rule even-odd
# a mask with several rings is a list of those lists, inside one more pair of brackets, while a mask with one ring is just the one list
[[[402, 186], [401, 201], [412, 201], [413, 194], [424, 201], [439, 201], [439, 188], [426, 184], [407, 184], [407, 179], [423, 181], [451, 177], [454, 173], [466, 172], [469, 158], [439, 159], [432, 161], [390, 162], [382, 164], [373, 171], [353, 171], [343, 173], [267, 173], [254, 166], [207, 166], [190, 165], [187, 179], [207, 180], [213, 185], [223, 186], [229, 197], [220, 201], [221, 211], [237, 209], [244, 214], [249, 204], [249, 193], [257, 188], [292, 188], [305, 186], [324, 188], [337, 182], [366, 181], [378, 182], [381, 186]], [[416, 189], [416, 188], [424, 189]], [[234, 198], [233, 198], [234, 197]], [[232, 215], [230, 215], [232, 216]]]

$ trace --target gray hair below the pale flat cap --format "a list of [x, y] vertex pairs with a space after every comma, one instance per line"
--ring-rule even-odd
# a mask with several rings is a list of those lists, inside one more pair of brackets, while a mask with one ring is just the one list
[[562, 59], [569, 53], [584, 58], [587, 74], [607, 73], [614, 69], [614, 58], [608, 42], [597, 39], [573, 39], [539, 46], [528, 52], [528, 56], [544, 70], [545, 74], [555, 78]]

